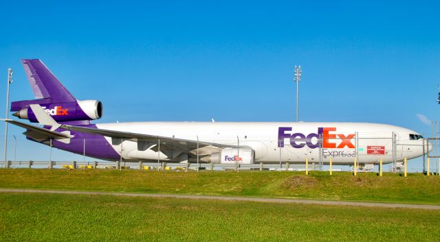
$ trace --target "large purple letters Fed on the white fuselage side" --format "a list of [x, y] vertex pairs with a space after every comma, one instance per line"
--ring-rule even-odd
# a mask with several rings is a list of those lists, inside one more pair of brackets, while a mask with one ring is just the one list
[[[288, 131], [292, 131], [292, 128], [280, 127], [278, 128], [278, 147], [284, 147], [285, 138], [289, 138], [290, 145], [292, 145], [294, 148], [300, 149], [305, 147], [305, 145], [307, 145], [307, 147], [310, 149], [318, 148], [320, 142], [319, 136], [322, 136], [322, 130], [323, 128], [318, 128], [317, 133], [311, 133], [305, 136], [303, 133], [286, 133]], [[312, 138], [316, 138], [316, 143], [311, 142]]]

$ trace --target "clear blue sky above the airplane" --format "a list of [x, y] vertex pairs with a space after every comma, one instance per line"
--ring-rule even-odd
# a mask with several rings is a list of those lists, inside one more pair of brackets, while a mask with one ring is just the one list
[[[114, 121], [438, 120], [435, 1], [3, 1], [0, 72], [41, 58]], [[5, 100], [5, 85], [0, 100]], [[11, 128], [21, 136], [22, 130]]]

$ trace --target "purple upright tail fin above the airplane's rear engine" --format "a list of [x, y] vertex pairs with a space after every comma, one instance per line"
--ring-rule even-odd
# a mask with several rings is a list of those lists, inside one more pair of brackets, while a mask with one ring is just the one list
[[76, 101], [39, 59], [21, 60], [36, 99], [52, 99], [52, 102]]

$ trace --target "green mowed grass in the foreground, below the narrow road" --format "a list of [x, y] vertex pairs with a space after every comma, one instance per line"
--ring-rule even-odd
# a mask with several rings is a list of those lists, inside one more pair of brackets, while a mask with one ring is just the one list
[[440, 211], [0, 193], [0, 241], [439, 241]]

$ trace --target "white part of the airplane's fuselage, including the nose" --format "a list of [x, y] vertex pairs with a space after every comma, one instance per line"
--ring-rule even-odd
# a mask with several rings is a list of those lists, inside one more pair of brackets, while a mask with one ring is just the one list
[[[137, 122], [101, 123], [97, 127], [250, 147], [254, 151], [254, 162], [265, 163], [303, 163], [307, 158], [309, 162], [328, 164], [332, 159], [335, 165], [350, 165], [355, 156], [360, 164], [366, 164], [378, 162], [380, 158], [388, 163], [423, 155], [423, 138], [410, 138], [410, 134], [418, 135], [417, 132], [379, 123]], [[111, 138], [107, 141], [111, 143]], [[158, 154], [153, 149], [138, 150], [135, 141], [127, 140], [112, 147], [118, 153], [122, 149], [124, 160], [159, 158], [182, 161], [167, 156], [166, 152]], [[205, 152], [201, 155], [209, 154]]]

